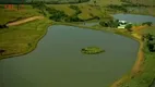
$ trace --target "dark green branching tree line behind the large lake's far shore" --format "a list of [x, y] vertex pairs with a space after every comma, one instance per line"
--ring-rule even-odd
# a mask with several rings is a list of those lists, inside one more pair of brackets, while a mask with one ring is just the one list
[[69, 8], [73, 9], [75, 13], [73, 15], [68, 15], [63, 11], [56, 10], [55, 8], [49, 8], [46, 5], [44, 1], [33, 1], [32, 7], [39, 10], [39, 13], [47, 15], [46, 12], [50, 14], [49, 18], [53, 20], [56, 22], [84, 22], [84, 21], [91, 21], [91, 20], [99, 20], [98, 16], [93, 16], [88, 20], [82, 20], [79, 17], [79, 14], [82, 13], [80, 8], [78, 5], [71, 4]]

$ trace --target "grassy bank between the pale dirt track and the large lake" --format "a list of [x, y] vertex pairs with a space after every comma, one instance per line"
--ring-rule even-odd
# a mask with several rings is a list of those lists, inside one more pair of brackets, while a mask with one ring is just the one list
[[33, 51], [50, 24], [49, 20], [44, 18], [1, 29], [0, 49], [5, 50], [5, 52], [0, 55], [0, 59]]

